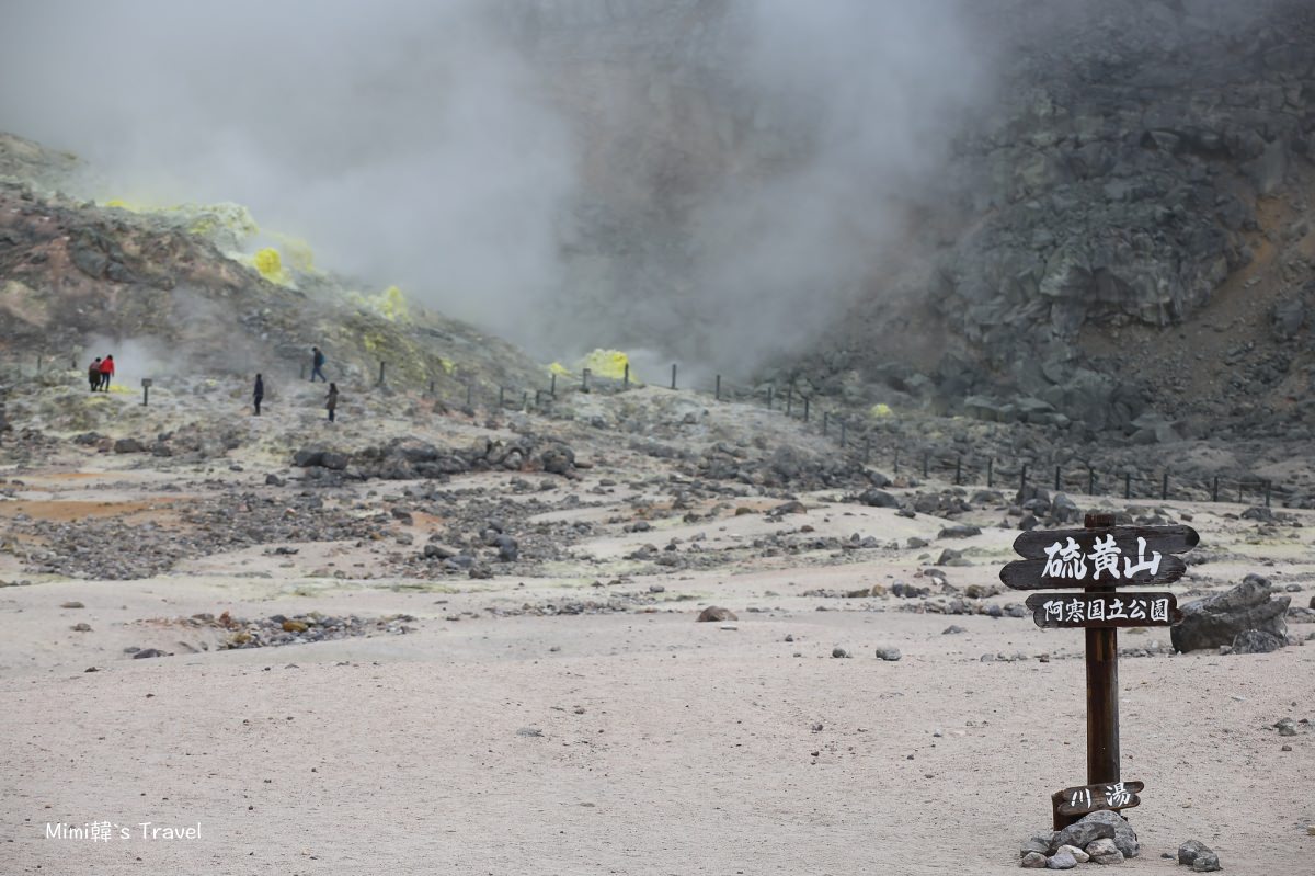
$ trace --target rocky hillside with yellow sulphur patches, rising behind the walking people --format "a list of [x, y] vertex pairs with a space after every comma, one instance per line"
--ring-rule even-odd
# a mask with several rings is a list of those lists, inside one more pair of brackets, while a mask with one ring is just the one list
[[[312, 266], [239, 251], [254, 229], [233, 204], [166, 210], [70, 199], [72, 157], [0, 135], [0, 358], [80, 362], [130, 347], [120, 368], [187, 375], [300, 374], [312, 346], [330, 379], [476, 387], [547, 379], [519, 350], [409, 306], [396, 289], [354, 291]], [[149, 360], [149, 364], [143, 360]], [[145, 368], [145, 370], [143, 370]]]

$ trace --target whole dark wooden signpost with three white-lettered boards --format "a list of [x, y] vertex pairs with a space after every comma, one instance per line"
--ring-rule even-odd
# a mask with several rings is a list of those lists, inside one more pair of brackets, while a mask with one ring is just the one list
[[1170, 626], [1182, 618], [1173, 593], [1123, 591], [1177, 581], [1186, 564], [1174, 554], [1201, 541], [1190, 526], [1115, 526], [1114, 514], [1088, 514], [1084, 529], [1032, 530], [1014, 542], [1023, 556], [999, 571], [1016, 591], [1081, 589], [1081, 593], [1034, 593], [1032, 620], [1043, 629], [1086, 630], [1086, 780], [1051, 794], [1055, 830], [1099, 809], [1128, 809], [1140, 801], [1140, 781], [1119, 776], [1119, 630], [1120, 626]]

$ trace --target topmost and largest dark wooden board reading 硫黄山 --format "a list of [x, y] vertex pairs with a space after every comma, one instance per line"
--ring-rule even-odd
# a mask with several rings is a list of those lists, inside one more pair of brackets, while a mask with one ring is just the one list
[[1189, 526], [1107, 526], [1023, 533], [1014, 550], [1027, 559], [1006, 563], [999, 580], [1015, 591], [1048, 587], [1156, 587], [1187, 571], [1173, 554], [1199, 541]]

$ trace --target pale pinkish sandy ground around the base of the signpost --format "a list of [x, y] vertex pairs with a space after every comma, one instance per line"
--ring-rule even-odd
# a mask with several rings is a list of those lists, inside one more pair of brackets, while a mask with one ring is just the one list
[[[20, 509], [76, 520], [100, 513], [97, 502], [167, 514], [187, 495], [160, 493], [159, 472], [125, 466], [59, 456], [29, 467], [0, 521]], [[617, 474], [594, 470], [579, 488]], [[221, 475], [247, 484], [263, 470], [208, 476]], [[571, 513], [631, 520], [629, 495]], [[325, 577], [310, 568], [327, 556], [351, 568], [352, 546], [321, 543], [292, 558], [197, 558], [150, 580], [46, 576], [0, 589], [0, 873], [1016, 872], [1019, 842], [1049, 826], [1051, 792], [1085, 781], [1082, 634], [907, 613], [894, 598], [803, 596], [924, 583], [926, 556], [943, 547], [972, 563], [945, 570], [955, 585], [990, 584], [1015, 534], [938, 542], [947, 521], [836, 505], [834, 493], [803, 499], [807, 514], [780, 522], [677, 516], [643, 534], [615, 525], [575, 546], [592, 568], [552, 577]], [[1298, 512], [1302, 529], [1261, 537], [1236, 520], [1241, 509], [1169, 509], [1190, 513], [1202, 548], [1220, 551], [1174, 587], [1180, 600], [1258, 571], [1298, 583], [1294, 604], [1304, 605], [1315, 516]], [[644, 542], [705, 531], [709, 547], [732, 547], [805, 523], [932, 543], [861, 562], [740, 558], [588, 584]], [[0, 576], [20, 575], [0, 555]], [[654, 585], [661, 600], [622, 613], [489, 610]], [[84, 608], [60, 608], [72, 601]], [[709, 604], [738, 621], [697, 623]], [[213, 631], [153, 622], [312, 609], [417, 620], [406, 635], [242, 651], [214, 650]], [[78, 622], [92, 630], [72, 631]], [[944, 634], [951, 623], [965, 631]], [[1126, 646], [1152, 639], [1166, 643], [1168, 630], [1120, 633]], [[174, 656], [133, 660], [128, 646]], [[903, 659], [876, 659], [878, 646]], [[832, 659], [835, 647], [852, 659]], [[1120, 869], [1184, 872], [1160, 855], [1195, 838], [1226, 872], [1315, 873], [1315, 734], [1273, 729], [1315, 719], [1312, 693], [1311, 646], [1122, 659], [1123, 776], [1147, 788], [1127, 813], [1144, 851]], [[113, 838], [46, 835], [47, 825], [88, 822], [109, 822]], [[150, 833], [197, 826], [199, 838]]]

